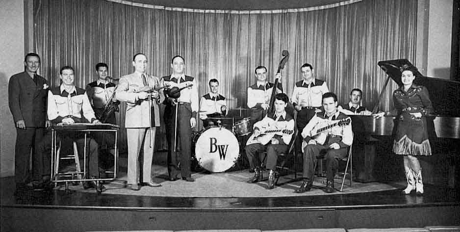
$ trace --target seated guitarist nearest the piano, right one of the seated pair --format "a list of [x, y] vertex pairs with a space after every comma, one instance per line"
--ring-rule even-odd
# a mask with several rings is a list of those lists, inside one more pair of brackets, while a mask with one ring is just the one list
[[[353, 142], [351, 120], [343, 126], [339, 126], [339, 124], [325, 130], [318, 137], [312, 134], [317, 129], [332, 125], [338, 120], [350, 119], [346, 114], [338, 111], [337, 96], [334, 93], [323, 94], [322, 103], [325, 113], [316, 114], [302, 131], [302, 137], [304, 138], [302, 144], [304, 153], [304, 171], [302, 177], [304, 180], [302, 185], [296, 189], [297, 193], [304, 193], [310, 190], [315, 172], [314, 166], [317, 162], [317, 157], [320, 156], [326, 158], [327, 181], [325, 192], [334, 192], [334, 176], [338, 168], [338, 161], [347, 155], [347, 148]], [[326, 153], [321, 153], [323, 150]]]

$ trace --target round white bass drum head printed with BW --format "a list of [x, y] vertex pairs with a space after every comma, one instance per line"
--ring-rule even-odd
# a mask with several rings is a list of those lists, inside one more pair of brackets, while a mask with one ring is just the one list
[[210, 172], [224, 172], [235, 165], [239, 145], [233, 133], [225, 128], [206, 129], [195, 144], [195, 157]]

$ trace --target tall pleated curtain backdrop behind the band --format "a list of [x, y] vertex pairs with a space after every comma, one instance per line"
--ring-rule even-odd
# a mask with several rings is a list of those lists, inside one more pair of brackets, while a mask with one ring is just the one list
[[[107, 63], [109, 76], [133, 72], [132, 56], [144, 52], [149, 74], [171, 73], [171, 58], [185, 57], [185, 73], [198, 80], [199, 95], [217, 78], [230, 109], [246, 106], [254, 69], [268, 68], [269, 80], [281, 52], [290, 53], [281, 83], [290, 96], [300, 67], [310, 63], [339, 103], [351, 89], [363, 90], [364, 105], [377, 103], [386, 75], [377, 62], [407, 58], [415, 63], [416, 0], [354, 0], [312, 10], [204, 11], [147, 7], [108, 0], [34, 0], [34, 50], [42, 57], [40, 72], [52, 86], [60, 84], [64, 65], [76, 70], [76, 86], [97, 78], [95, 65]], [[382, 110], [392, 107], [391, 83]], [[127, 149], [125, 105], [117, 115], [119, 145]], [[167, 149], [164, 127], [156, 149]]]

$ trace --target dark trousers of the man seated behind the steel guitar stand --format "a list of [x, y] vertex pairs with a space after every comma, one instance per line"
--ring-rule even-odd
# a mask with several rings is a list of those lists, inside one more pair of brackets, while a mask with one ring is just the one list
[[[84, 148], [86, 142], [86, 164], [87, 167], [86, 173], [89, 174], [85, 178], [94, 176], [99, 176], [99, 162], [98, 162], [98, 143], [92, 139], [91, 137], [87, 137], [86, 141], [84, 138], [84, 133], [82, 132], [59, 132], [57, 136], [57, 142], [61, 142], [61, 154], [68, 149], [73, 151], [72, 142], [77, 142], [77, 149], [78, 149], [78, 157], [80, 159], [80, 164], [84, 164]], [[50, 175], [51, 174], [51, 131], [45, 135], [43, 140], [38, 145], [38, 153], [42, 154], [42, 165], [43, 175]], [[81, 166], [81, 171], [83, 171], [83, 167]]]

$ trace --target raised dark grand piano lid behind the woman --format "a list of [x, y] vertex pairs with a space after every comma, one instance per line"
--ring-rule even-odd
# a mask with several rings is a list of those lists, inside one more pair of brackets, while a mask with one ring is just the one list
[[[401, 81], [401, 66], [414, 67], [407, 59], [383, 60], [377, 63], [385, 73], [399, 86]], [[424, 77], [420, 72], [414, 73], [414, 84], [427, 87], [433, 103], [435, 115], [444, 117], [460, 117], [460, 82], [433, 77]]]

